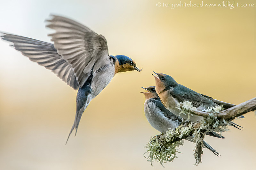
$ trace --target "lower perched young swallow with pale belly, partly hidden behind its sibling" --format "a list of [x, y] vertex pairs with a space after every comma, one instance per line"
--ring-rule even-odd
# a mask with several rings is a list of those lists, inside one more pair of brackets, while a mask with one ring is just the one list
[[[182, 118], [174, 115], [172, 112], [167, 110], [162, 102], [160, 101], [159, 96], [156, 93], [155, 86], [149, 86], [147, 88], [142, 87], [147, 92], [141, 92], [145, 95], [145, 103], [144, 103], [144, 112], [145, 116], [150, 123], [150, 125], [160, 132], [165, 132], [168, 129], [175, 129], [182, 123]], [[223, 136], [211, 132], [207, 133], [207, 135], [224, 138]], [[193, 142], [193, 136], [188, 137], [186, 140]], [[213, 149], [209, 144], [205, 141], [203, 142], [204, 146], [212, 151], [215, 155], [220, 155], [215, 149]]]

